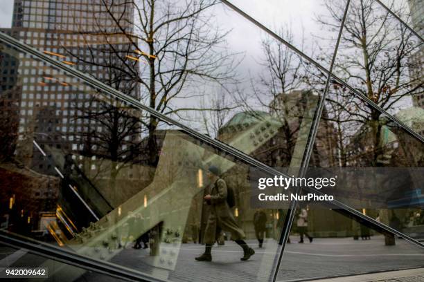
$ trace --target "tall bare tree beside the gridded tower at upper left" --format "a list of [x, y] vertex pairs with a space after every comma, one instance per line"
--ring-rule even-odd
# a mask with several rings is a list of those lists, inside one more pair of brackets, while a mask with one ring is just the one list
[[[97, 65], [116, 70], [127, 82], [137, 84], [138, 99], [152, 109], [166, 115], [187, 111], [208, 111], [196, 106], [182, 106], [175, 98], [199, 97], [195, 86], [213, 82], [218, 85], [233, 79], [235, 57], [224, 46], [227, 32], [215, 26], [214, 15], [209, 12], [218, 3], [215, 0], [157, 1], [157, 0], [100, 0], [102, 17], [94, 19], [92, 30], [81, 28], [80, 35], [97, 36], [105, 45], [102, 52], [113, 55], [111, 62], [96, 58], [89, 40], [83, 48], [91, 54], [81, 57], [73, 54], [85, 65]], [[135, 15], [136, 17], [132, 17]], [[116, 48], [116, 41], [125, 42], [124, 50]], [[109, 55], [107, 57], [109, 57]], [[118, 62], [118, 64], [116, 64]], [[134, 62], [139, 66], [134, 67]], [[119, 86], [112, 84], [119, 89]], [[194, 89], [194, 91], [193, 91]], [[153, 115], [144, 115], [148, 131], [149, 162], [158, 160], [154, 131], [159, 124]]]

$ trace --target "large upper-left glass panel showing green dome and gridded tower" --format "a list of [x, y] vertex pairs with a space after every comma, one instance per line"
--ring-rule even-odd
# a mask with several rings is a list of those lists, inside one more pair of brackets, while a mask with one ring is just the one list
[[[131, 6], [127, 10], [140, 10], [134, 19], [121, 10], [123, 5], [112, 6], [115, 10], [110, 13], [97, 2], [81, 4], [82, 12], [71, 3], [49, 6], [56, 12], [70, 9], [77, 21], [93, 16], [87, 9], [102, 10], [99, 15], [108, 16], [89, 25], [94, 29], [89, 34], [85, 24], [70, 23], [69, 13], [61, 16], [63, 25], [56, 25], [58, 30], [15, 32], [19, 29], [12, 28], [8, 32], [200, 133], [259, 160], [272, 154], [267, 162], [271, 166], [299, 167], [326, 75], [222, 5], [190, 2], [186, 12], [205, 8], [199, 18], [193, 18], [194, 23], [182, 19], [168, 24], [166, 19], [173, 15], [167, 14], [166, 4], [171, 2], [171, 12], [177, 14], [188, 5], [186, 1], [158, 3], [152, 41], [142, 28], [150, 8], [141, 1], [126, 5]], [[24, 15], [37, 15], [37, 10], [26, 8], [26, 2], [23, 5]], [[117, 15], [122, 23], [112, 21]], [[181, 26], [193, 26], [188, 34], [199, 39], [188, 41], [189, 30], [180, 30]], [[23, 75], [36, 72], [30, 67], [22, 71]], [[154, 120], [150, 125], [151, 129], [160, 126]]]

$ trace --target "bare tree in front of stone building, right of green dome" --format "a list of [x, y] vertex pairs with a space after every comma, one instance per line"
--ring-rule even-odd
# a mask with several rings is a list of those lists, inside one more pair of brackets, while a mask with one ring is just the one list
[[[281, 28], [279, 35], [293, 44], [294, 36], [290, 27]], [[256, 151], [256, 154], [265, 158], [271, 165], [288, 167], [299, 138], [301, 124], [306, 121], [303, 118], [306, 118], [305, 115], [311, 107], [315, 108], [319, 99], [317, 93], [321, 91], [321, 88], [316, 86], [320, 86], [325, 80], [325, 75], [318, 70], [312, 71], [310, 63], [275, 39], [263, 39], [262, 48], [264, 57], [260, 65], [263, 71], [257, 79], [251, 80], [251, 88], [254, 89], [254, 98], [273, 118], [281, 122], [281, 128], [270, 142]], [[321, 74], [322, 81], [317, 83], [311, 80], [312, 73], [313, 77], [320, 77]], [[254, 115], [251, 107], [247, 104], [245, 106]]]

